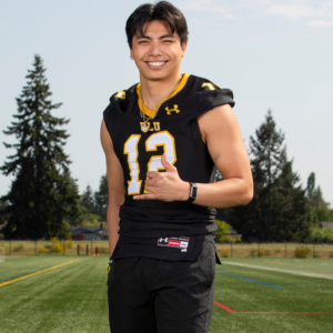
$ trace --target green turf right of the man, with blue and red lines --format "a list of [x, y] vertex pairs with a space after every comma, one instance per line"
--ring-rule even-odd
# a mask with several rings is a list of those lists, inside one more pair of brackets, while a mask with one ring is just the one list
[[[223, 259], [224, 262], [280, 269], [279, 260]], [[321, 262], [327, 265], [321, 265]], [[290, 264], [290, 265], [289, 265]], [[329, 265], [331, 264], [331, 265]], [[286, 269], [287, 266], [289, 269]], [[302, 273], [322, 270], [333, 278], [333, 261], [290, 260], [283, 269]], [[253, 268], [223, 264], [216, 271], [270, 283], [281, 289], [216, 274], [215, 300], [241, 312], [332, 312], [332, 314], [228, 313], [215, 306], [210, 332], [333, 332], [333, 281]], [[222, 320], [224, 317], [224, 320]]]

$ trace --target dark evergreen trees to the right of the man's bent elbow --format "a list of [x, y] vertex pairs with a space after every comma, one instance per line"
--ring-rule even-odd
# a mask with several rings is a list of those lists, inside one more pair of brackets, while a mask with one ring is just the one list
[[[250, 204], [219, 210], [225, 220], [248, 242], [333, 242], [333, 230], [321, 236], [320, 222], [333, 221], [333, 211], [315, 188], [315, 173], [309, 175], [306, 188], [293, 171], [293, 160], [286, 155], [284, 134], [276, 129], [272, 112], [250, 137], [250, 163], [254, 196]], [[220, 174], [216, 180], [223, 181]]]

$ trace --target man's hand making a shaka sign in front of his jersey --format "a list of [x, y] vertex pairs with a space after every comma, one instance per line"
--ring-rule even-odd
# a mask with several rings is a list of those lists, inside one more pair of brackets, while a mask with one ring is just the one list
[[163, 153], [161, 163], [165, 172], [147, 172], [145, 191], [151, 193], [134, 195], [134, 200], [185, 201], [189, 199], [190, 184], [180, 179], [176, 168], [167, 160]]

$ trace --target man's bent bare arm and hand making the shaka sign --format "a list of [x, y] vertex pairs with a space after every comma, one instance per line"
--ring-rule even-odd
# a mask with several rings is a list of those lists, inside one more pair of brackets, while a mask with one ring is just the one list
[[[196, 183], [198, 195], [193, 203], [214, 208], [248, 204], [253, 196], [253, 181], [248, 152], [232, 109], [229, 104], [216, 107], [202, 114], [198, 122], [223, 181]], [[168, 162], [165, 154], [162, 164], [167, 172], [147, 173], [145, 189], [152, 193], [134, 195], [135, 200], [188, 200], [189, 183], [180, 179], [176, 168]]]

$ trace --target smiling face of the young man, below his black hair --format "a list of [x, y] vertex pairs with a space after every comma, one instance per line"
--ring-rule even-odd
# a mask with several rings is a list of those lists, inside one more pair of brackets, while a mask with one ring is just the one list
[[186, 43], [181, 46], [176, 32], [171, 33], [165, 21], [147, 22], [143, 36], [132, 39], [131, 59], [140, 71], [140, 79], [150, 81], [179, 78], [181, 59], [184, 57]]

